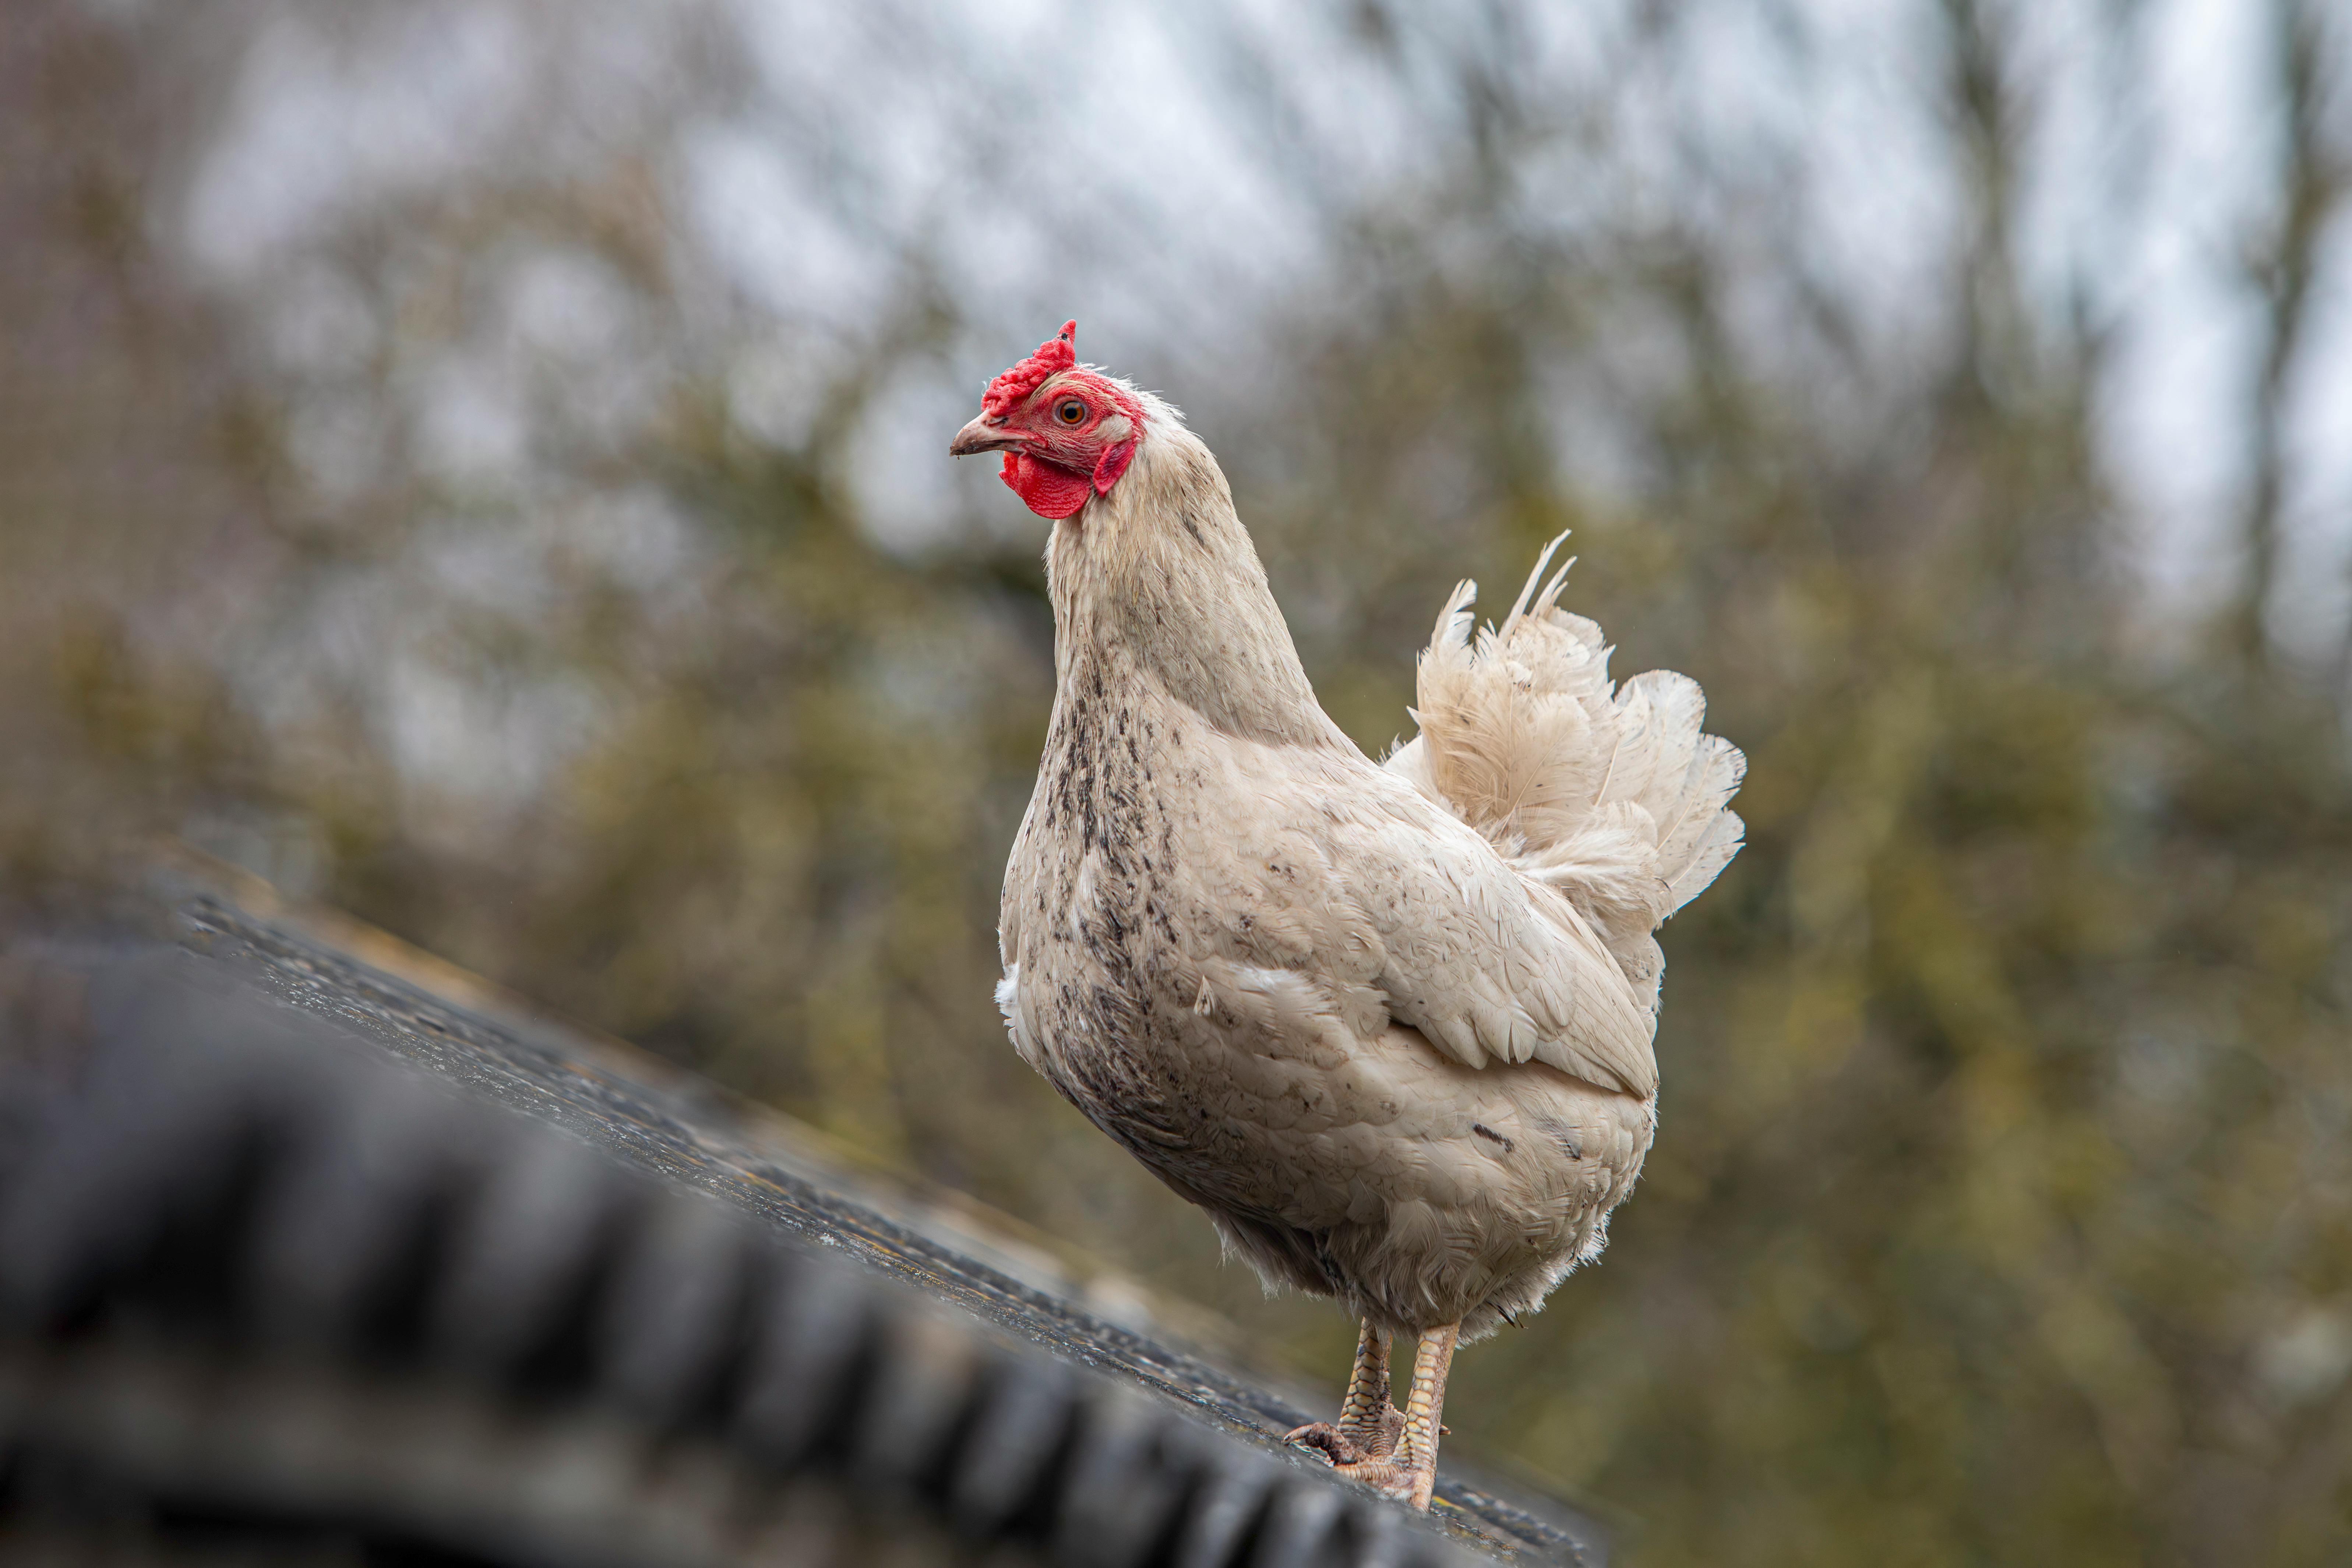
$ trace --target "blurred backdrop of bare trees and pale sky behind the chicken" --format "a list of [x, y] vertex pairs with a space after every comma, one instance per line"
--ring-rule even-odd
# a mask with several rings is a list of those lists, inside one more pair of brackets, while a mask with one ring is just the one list
[[9, 0], [0, 922], [186, 839], [1338, 1387], [1011, 1053], [1065, 315], [1327, 708], [1458, 576], [1686, 670], [1606, 1260], [1461, 1453], [1637, 1563], [2352, 1556], [2352, 16]]

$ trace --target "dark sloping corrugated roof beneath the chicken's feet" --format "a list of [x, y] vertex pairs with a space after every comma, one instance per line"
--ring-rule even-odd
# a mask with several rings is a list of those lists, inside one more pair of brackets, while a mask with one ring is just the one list
[[85, 1004], [71, 1060], [16, 1053], [0, 1441], [492, 1561], [1604, 1559], [1458, 1476], [1411, 1519], [969, 1206], [256, 903], [52, 959]]

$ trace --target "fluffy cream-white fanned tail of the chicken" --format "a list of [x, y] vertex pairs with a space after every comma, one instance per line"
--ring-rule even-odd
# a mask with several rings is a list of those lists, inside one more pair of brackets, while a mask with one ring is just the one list
[[[1609, 679], [1609, 644], [1559, 609], [1566, 534], [1536, 557], [1498, 628], [1472, 635], [1461, 583], [1421, 656], [1421, 733], [1388, 766], [1559, 886], [1628, 976], [1656, 983], [1649, 933], [1738, 853], [1745, 759], [1705, 733], [1708, 698], [1670, 670]], [[1545, 576], [1550, 571], [1550, 576]]]

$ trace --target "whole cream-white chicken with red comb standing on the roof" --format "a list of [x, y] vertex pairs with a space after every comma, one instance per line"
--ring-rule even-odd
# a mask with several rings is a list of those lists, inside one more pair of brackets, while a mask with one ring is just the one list
[[1075, 334], [950, 447], [1002, 451], [1056, 524], [997, 1004], [1268, 1288], [1362, 1321], [1338, 1422], [1291, 1441], [1425, 1509], [1454, 1347], [1595, 1258], [1642, 1168], [1651, 933], [1738, 851], [1743, 759], [1691, 679], [1611, 684], [1552, 541], [1501, 628], [1472, 637], [1454, 590], [1421, 733], [1374, 764], [1315, 703], [1216, 458]]

